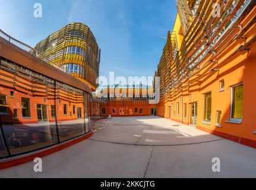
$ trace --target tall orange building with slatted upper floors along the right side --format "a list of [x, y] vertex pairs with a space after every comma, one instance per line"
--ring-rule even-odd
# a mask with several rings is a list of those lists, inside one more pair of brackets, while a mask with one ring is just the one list
[[256, 147], [256, 1], [178, 0], [157, 115]]

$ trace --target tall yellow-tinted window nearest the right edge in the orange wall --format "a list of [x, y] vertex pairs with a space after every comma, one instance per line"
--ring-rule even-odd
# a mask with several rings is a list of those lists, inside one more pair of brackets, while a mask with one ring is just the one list
[[231, 119], [242, 119], [242, 112], [244, 106], [244, 85], [239, 84], [231, 88], [232, 89], [232, 107], [231, 107]]

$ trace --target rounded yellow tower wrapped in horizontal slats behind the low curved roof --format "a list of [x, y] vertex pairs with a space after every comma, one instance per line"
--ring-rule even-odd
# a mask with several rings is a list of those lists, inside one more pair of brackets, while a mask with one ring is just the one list
[[62, 71], [89, 84], [93, 91], [96, 90], [100, 49], [86, 24], [68, 24], [37, 43], [34, 49]]

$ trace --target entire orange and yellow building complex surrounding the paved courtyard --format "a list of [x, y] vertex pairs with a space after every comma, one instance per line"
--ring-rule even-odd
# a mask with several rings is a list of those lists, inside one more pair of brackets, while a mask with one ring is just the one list
[[107, 115], [157, 113], [256, 148], [256, 1], [217, 2], [177, 1], [155, 73], [159, 103], [148, 87], [96, 91], [100, 49], [85, 24], [35, 48], [0, 30], [0, 169], [89, 137]]

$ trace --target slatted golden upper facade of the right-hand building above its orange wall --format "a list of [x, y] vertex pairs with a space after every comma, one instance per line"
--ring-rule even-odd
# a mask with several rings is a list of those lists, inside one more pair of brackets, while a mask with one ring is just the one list
[[[213, 17], [216, 11], [213, 4], [216, 2], [220, 5], [220, 12], [219, 16]], [[200, 86], [201, 81], [214, 71], [218, 71], [223, 62], [217, 59], [218, 55], [230, 43], [244, 37], [255, 21], [252, 20], [248, 26], [241, 25], [247, 13], [254, 8], [255, 1], [179, 0], [177, 4], [175, 26], [172, 33], [168, 33], [163, 55], [157, 67], [161, 100], [164, 101], [188, 93], [195, 86]], [[191, 20], [188, 20], [189, 11], [184, 13], [187, 9], [192, 12]], [[235, 36], [228, 43], [223, 43], [230, 35]], [[182, 40], [179, 40], [179, 36], [182, 36]], [[246, 43], [236, 52], [246, 50], [251, 43]]]

